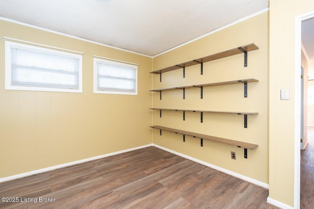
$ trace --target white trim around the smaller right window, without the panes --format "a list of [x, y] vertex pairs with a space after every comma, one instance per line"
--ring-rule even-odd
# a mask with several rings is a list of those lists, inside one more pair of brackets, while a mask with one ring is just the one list
[[[97, 62], [107, 62], [112, 64], [118, 64], [121, 66], [131, 67], [135, 69], [135, 92], [127, 92], [127, 91], [106, 91], [106, 90], [98, 90], [98, 69], [97, 69]], [[125, 62], [100, 56], [94, 56], [94, 94], [120, 94], [120, 95], [137, 95], [137, 66], [138, 64], [134, 64], [131, 62]]]

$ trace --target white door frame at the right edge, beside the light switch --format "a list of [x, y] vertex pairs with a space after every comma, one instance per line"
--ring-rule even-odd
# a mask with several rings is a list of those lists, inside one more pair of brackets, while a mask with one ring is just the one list
[[300, 208], [300, 133], [301, 133], [301, 24], [314, 17], [314, 11], [295, 17], [295, 66], [294, 66], [294, 208]]

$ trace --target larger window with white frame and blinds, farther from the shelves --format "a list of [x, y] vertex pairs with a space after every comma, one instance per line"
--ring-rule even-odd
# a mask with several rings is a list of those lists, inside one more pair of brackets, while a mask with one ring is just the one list
[[82, 55], [5, 41], [5, 89], [82, 92]]

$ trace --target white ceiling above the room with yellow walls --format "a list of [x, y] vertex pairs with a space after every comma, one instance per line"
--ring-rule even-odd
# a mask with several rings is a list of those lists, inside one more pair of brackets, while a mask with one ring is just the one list
[[0, 0], [0, 16], [153, 56], [268, 7], [268, 0]]

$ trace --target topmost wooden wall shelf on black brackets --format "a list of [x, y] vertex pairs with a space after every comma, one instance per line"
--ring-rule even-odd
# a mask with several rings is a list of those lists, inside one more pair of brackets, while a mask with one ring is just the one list
[[166, 73], [166, 72], [169, 72], [169, 71], [178, 70], [178, 69], [181, 69], [181, 68], [185, 69], [186, 67], [190, 67], [190, 66], [193, 66], [193, 65], [201, 64], [201, 74], [202, 74], [202, 72], [203, 72], [202, 71], [202, 63], [209, 62], [209, 61], [216, 60], [216, 59], [221, 59], [221, 58], [228, 57], [228, 56], [233, 56], [233, 55], [240, 54], [240, 53], [244, 53], [244, 67], [246, 67], [247, 66], [247, 61], [246, 61], [247, 60], [247, 52], [258, 50], [258, 49], [259, 48], [255, 44], [248, 44], [248, 45], [245, 45], [245, 46], [237, 47], [237, 48], [232, 49], [232, 50], [227, 50], [227, 51], [224, 51], [224, 52], [211, 54], [209, 56], [205, 56], [205, 57], [202, 57], [202, 58], [198, 58], [198, 59], [194, 59], [194, 60], [191, 60], [191, 61], [183, 62], [183, 63], [177, 64], [177, 65], [170, 66], [170, 67], [167, 67], [167, 68], [163, 68], [163, 69], [160, 69], [160, 70], [156, 70], [156, 71], [153, 71], [153, 72], [150, 72], [150, 73], [152, 73], [152, 74], [162, 74], [162, 73]]

